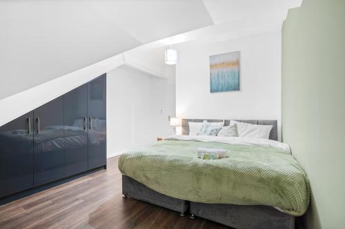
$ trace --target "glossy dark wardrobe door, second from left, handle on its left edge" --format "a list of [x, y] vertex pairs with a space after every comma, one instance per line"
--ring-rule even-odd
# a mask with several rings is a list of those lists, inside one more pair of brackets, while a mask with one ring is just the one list
[[34, 186], [63, 177], [63, 96], [34, 109]]

